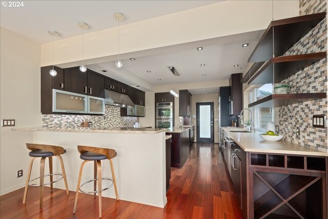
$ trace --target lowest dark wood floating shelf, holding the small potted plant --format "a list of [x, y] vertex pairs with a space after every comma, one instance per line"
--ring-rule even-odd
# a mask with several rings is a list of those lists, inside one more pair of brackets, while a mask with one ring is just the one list
[[326, 93], [272, 94], [249, 104], [248, 107], [280, 107], [326, 97]]

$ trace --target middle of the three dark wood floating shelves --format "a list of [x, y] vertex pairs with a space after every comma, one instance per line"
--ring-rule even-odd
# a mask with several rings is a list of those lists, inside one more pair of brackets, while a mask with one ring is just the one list
[[279, 83], [283, 79], [288, 78], [296, 72], [320, 61], [320, 59], [325, 58], [326, 56], [326, 52], [317, 52], [273, 57], [259, 67], [253, 77], [250, 74], [251, 78], [248, 84], [261, 85]]

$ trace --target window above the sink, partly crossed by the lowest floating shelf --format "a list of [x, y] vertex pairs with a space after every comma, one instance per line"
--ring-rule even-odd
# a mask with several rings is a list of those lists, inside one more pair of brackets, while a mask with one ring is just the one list
[[[273, 91], [273, 84], [259, 85], [250, 91], [250, 103], [258, 101], [259, 99], [271, 95]], [[272, 107], [251, 108], [253, 114], [254, 127], [265, 132], [268, 122], [273, 122], [274, 112]]]

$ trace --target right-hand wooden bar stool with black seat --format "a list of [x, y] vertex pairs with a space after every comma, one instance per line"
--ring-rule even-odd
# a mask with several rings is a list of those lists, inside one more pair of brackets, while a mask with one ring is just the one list
[[[82, 162], [81, 167], [80, 167], [80, 172], [78, 175], [78, 182], [77, 182], [77, 188], [76, 188], [76, 196], [75, 196], [73, 214], [75, 214], [75, 211], [76, 211], [77, 197], [78, 197], [78, 193], [79, 193], [78, 191], [80, 191], [82, 193], [89, 193], [89, 194], [93, 193], [94, 196], [96, 195], [96, 193], [98, 193], [99, 218], [100, 218], [101, 217], [101, 192], [111, 188], [114, 185], [116, 200], [118, 201], [115, 174], [114, 174], [114, 168], [113, 168], [113, 162], [112, 162], [112, 158], [114, 158], [117, 155], [117, 153], [114, 149], [80, 146], [80, 145], [77, 146], [77, 150], [80, 153], [80, 158], [85, 161]], [[110, 180], [109, 178], [101, 177], [101, 162], [100, 161], [107, 160], [107, 159], [109, 160], [110, 165], [111, 165], [113, 180]], [[94, 161], [94, 178], [93, 178], [93, 180], [89, 180], [80, 186], [83, 167], [89, 161]], [[101, 180], [99, 180], [99, 179], [112, 181], [112, 184], [103, 189], [101, 187]], [[85, 190], [81, 189], [81, 187], [83, 187], [85, 184], [90, 183], [90, 182], [94, 182], [94, 191], [85, 191]], [[96, 189], [97, 183], [98, 183], [98, 189]]]

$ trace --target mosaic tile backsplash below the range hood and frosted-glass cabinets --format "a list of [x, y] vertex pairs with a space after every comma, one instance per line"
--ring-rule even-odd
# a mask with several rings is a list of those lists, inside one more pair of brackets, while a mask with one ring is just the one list
[[77, 128], [82, 122], [92, 122], [92, 127], [133, 127], [139, 117], [120, 116], [120, 108], [105, 105], [105, 115], [42, 115], [43, 128]]

